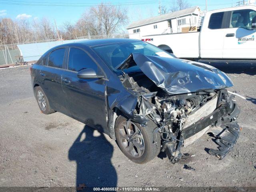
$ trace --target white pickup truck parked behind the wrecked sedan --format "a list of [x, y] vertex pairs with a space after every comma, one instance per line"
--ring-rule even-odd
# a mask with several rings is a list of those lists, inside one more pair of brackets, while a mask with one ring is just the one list
[[199, 32], [142, 37], [191, 60], [256, 60], [256, 6], [206, 12]]

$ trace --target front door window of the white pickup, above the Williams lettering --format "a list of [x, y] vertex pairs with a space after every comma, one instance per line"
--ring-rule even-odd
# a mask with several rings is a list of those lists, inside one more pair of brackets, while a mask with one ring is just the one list
[[252, 20], [256, 16], [256, 12], [254, 10], [237, 10], [232, 11], [231, 19], [230, 19], [230, 28], [246, 28], [252, 29]]

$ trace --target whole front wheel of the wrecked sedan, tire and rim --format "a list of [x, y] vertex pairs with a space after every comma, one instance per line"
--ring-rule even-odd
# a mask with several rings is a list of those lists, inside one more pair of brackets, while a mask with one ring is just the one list
[[[128, 129], [124, 126], [127, 122]], [[138, 164], [144, 164], [154, 159], [160, 153], [161, 144], [160, 134], [154, 132], [156, 127], [156, 124], [151, 120], [148, 122], [147, 126], [142, 127], [138, 123], [128, 121], [127, 118], [121, 115], [118, 116], [115, 123], [115, 134], [120, 150], [126, 157]], [[138, 136], [135, 134], [137, 128]], [[129, 130], [130, 133], [127, 134]], [[132, 138], [132, 135], [135, 135], [134, 138]], [[144, 149], [142, 150], [143, 145]]]

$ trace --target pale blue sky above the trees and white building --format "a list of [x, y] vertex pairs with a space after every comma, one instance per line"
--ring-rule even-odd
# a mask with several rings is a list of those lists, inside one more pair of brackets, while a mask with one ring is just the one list
[[[237, 1], [208, 0], [208, 10], [235, 6]], [[29, 20], [46, 17], [52, 22], [55, 19], [57, 25], [61, 27], [65, 21], [75, 23], [83, 12], [90, 9], [90, 6], [100, 2], [122, 4], [128, 10], [130, 22], [158, 15], [159, 0], [0, 0], [0, 17]], [[202, 10], [205, 9], [205, 0], [187, 0], [187, 2], [191, 6], [198, 5]], [[173, 0], [161, 0], [161, 4], [170, 7]]]

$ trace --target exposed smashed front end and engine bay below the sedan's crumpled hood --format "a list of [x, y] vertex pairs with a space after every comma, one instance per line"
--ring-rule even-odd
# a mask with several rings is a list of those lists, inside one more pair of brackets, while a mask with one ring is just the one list
[[161, 151], [166, 152], [170, 162], [186, 158], [181, 147], [192, 144], [212, 127], [220, 128], [216, 136], [220, 147], [210, 150], [210, 154], [224, 158], [236, 142], [240, 131], [235, 122], [239, 109], [234, 95], [226, 89], [170, 95], [143, 73], [124, 73], [120, 80], [138, 96], [134, 114], [157, 125], [154, 132], [160, 133]]

